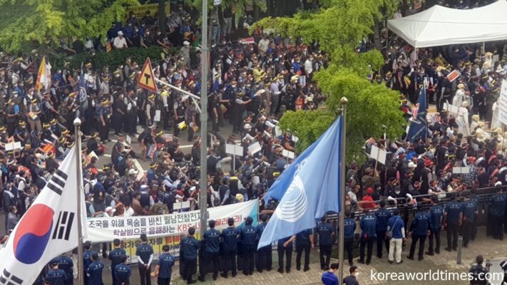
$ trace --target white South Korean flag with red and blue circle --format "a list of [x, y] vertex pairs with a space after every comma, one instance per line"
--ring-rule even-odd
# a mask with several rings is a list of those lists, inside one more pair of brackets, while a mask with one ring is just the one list
[[[80, 158], [73, 147], [0, 249], [0, 284], [33, 284], [51, 259], [78, 247], [76, 160]], [[82, 192], [81, 201], [81, 220], [86, 221]], [[82, 229], [86, 237], [86, 227]]]

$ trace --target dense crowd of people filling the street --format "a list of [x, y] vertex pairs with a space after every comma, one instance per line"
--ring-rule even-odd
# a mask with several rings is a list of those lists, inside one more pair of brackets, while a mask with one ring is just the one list
[[[227, 28], [222, 32], [218, 29], [213, 31], [210, 81], [202, 83], [198, 30], [188, 12], [177, 9], [170, 14], [166, 21], [168, 33], [164, 36], [158, 34], [154, 24], [149, 14], [140, 21], [130, 15], [126, 26], [111, 27], [108, 38], [113, 48], [163, 46], [161, 59], [153, 61], [155, 76], [160, 81], [195, 95], [199, 95], [202, 84], [207, 84], [212, 127], [208, 134], [208, 160], [204, 162], [208, 165], [209, 183], [205, 190], [208, 207], [262, 197], [292, 162], [284, 150], [295, 148], [296, 138], [280, 132], [277, 120], [285, 110], [314, 110], [324, 103], [326, 95], [314, 84], [312, 75], [327, 67], [327, 54], [317, 44], [307, 46], [300, 39], [292, 41], [262, 31], [255, 31], [255, 43], [222, 43], [224, 38], [230, 39], [229, 33]], [[89, 43], [74, 43], [73, 48], [66, 48], [76, 52], [83, 51], [83, 46], [91, 48]], [[478, 219], [483, 216], [479, 214], [483, 204], [478, 199], [483, 188], [494, 192], [486, 203], [488, 234], [503, 239], [503, 232], [507, 232], [507, 198], [502, 190], [502, 185], [507, 185], [504, 155], [507, 133], [503, 133], [498, 121], [496, 103], [501, 80], [507, 78], [503, 43], [488, 44], [486, 48], [463, 45], [414, 49], [386, 33], [383, 43], [385, 65], [380, 71], [372, 71], [372, 84], [399, 90], [400, 110], [407, 123], [416, 113], [414, 104], [421, 88], [425, 88], [428, 100], [436, 104], [437, 112], [429, 116], [428, 132], [415, 142], [396, 138], [367, 140], [365, 154], [368, 156], [373, 145], [386, 150], [385, 165], [373, 159], [349, 165], [344, 237], [351, 276], [357, 272], [352, 259], [357, 239], [360, 247], [357, 262], [361, 264], [371, 262], [375, 243], [378, 258], [383, 257], [385, 247], [389, 262], [401, 263], [406, 237], [412, 241], [408, 259], [415, 259], [416, 249], [419, 261], [425, 254], [439, 254], [443, 229], [447, 234], [445, 250], [456, 250], [459, 232], [464, 236], [464, 247], [468, 247], [476, 238]], [[170, 56], [169, 46], [180, 46], [180, 53]], [[0, 189], [6, 234], [14, 229], [19, 217], [58, 168], [58, 162], [75, 145], [72, 122], [76, 114], [83, 121], [82, 131], [86, 136], [82, 152], [88, 217], [172, 213], [173, 204], [182, 201], [190, 201], [190, 209], [198, 209], [196, 201], [201, 191], [198, 166], [203, 163], [199, 156], [198, 130], [203, 122], [199, 120], [198, 105], [191, 97], [163, 84], [158, 93], [143, 90], [136, 84], [140, 66], [130, 58], [121, 66], [102, 70], [91, 63], [82, 68], [71, 68], [66, 63], [53, 71], [51, 86], [38, 90], [35, 81], [40, 61], [41, 56], [35, 50], [21, 58], [6, 54], [0, 58], [3, 114], [0, 115]], [[459, 71], [460, 75], [451, 81], [447, 76], [453, 71]], [[155, 114], [160, 114], [160, 118]], [[233, 133], [221, 131], [227, 124], [232, 125]], [[111, 149], [111, 163], [96, 167], [97, 156], [109, 151], [105, 145], [111, 141], [111, 133], [118, 140]], [[126, 135], [137, 138], [137, 142], [126, 142]], [[193, 143], [188, 154], [180, 149], [180, 142], [184, 141]], [[232, 161], [225, 145], [238, 141], [244, 154]], [[12, 142], [21, 142], [21, 148], [6, 150]], [[259, 143], [260, 150], [251, 152], [248, 146], [255, 142]], [[135, 143], [140, 146], [138, 152], [134, 151]], [[139, 175], [135, 168], [136, 159], [150, 160], [145, 175]], [[228, 173], [222, 167], [225, 163], [230, 164]], [[455, 167], [466, 168], [466, 173], [456, 173]], [[272, 210], [276, 205], [277, 201], [261, 202], [260, 209]], [[415, 213], [411, 215], [411, 212]], [[357, 219], [354, 213], [361, 213], [362, 217]], [[185, 280], [189, 284], [194, 281], [191, 273], [198, 248], [205, 252], [202, 260], [214, 265], [213, 279], [219, 271], [219, 257], [230, 264], [235, 276], [238, 241], [240, 247], [245, 247], [241, 250], [242, 260], [247, 264], [242, 265], [245, 275], [252, 274], [255, 263], [260, 272], [270, 270], [271, 250], [255, 250], [267, 219], [262, 216], [262, 224], [256, 229], [250, 225], [250, 232], [247, 225], [217, 233], [210, 223], [203, 244], [193, 241], [193, 232], [189, 231], [189, 237], [182, 240], [180, 247], [181, 262], [188, 270], [187, 274], [183, 273]], [[314, 232], [318, 237], [315, 242]], [[334, 237], [334, 229], [327, 217], [323, 217], [314, 231], [307, 229], [278, 241], [278, 271], [290, 272], [293, 243], [297, 252], [296, 269], [309, 269], [310, 249], [319, 244], [321, 269], [336, 270], [336, 264], [330, 264]], [[427, 250], [426, 237], [429, 237]], [[232, 248], [220, 252], [217, 243], [226, 243], [229, 238]], [[113, 280], [117, 268], [118, 276], [129, 275], [128, 266], [118, 267], [126, 262], [125, 254], [121, 254], [121, 242], [114, 244], [115, 249], [111, 251], [103, 247], [102, 252], [93, 252], [88, 247], [87, 271], [103, 268], [99, 260], [102, 254], [116, 262], [112, 266]], [[117, 252], [120, 254], [115, 255]], [[140, 271], [145, 268], [141, 274], [148, 272], [149, 275], [148, 267], [153, 261], [149, 254], [148, 260], [144, 257], [138, 260], [142, 261]], [[170, 276], [167, 266], [173, 259], [168, 254], [167, 260], [162, 260], [159, 259], [160, 268], [155, 271], [160, 271], [160, 276], [169, 272]], [[164, 260], [168, 263], [161, 264]], [[55, 261], [51, 266], [60, 270], [57, 264], [62, 263]], [[206, 270], [201, 268], [201, 281]], [[227, 271], [222, 277], [227, 278]], [[62, 275], [62, 272], [55, 274]], [[88, 280], [94, 280], [92, 275]], [[167, 284], [165, 280], [160, 282]]]

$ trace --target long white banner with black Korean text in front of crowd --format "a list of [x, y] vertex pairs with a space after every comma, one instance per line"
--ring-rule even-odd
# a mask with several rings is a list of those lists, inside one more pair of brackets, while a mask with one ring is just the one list
[[[235, 226], [240, 227], [246, 217], [257, 224], [259, 200], [230, 204], [208, 209], [208, 219], [215, 219], [216, 229], [225, 229], [227, 219], [234, 218]], [[138, 239], [140, 234], [148, 237], [180, 236], [188, 233], [190, 227], [200, 228], [200, 212], [181, 212], [156, 216], [138, 217], [100, 217], [87, 220], [90, 242], [111, 242], [113, 239]]]

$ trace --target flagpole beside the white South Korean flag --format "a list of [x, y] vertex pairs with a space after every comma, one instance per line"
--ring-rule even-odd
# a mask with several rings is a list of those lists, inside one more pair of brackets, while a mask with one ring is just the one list
[[[79, 111], [78, 111], [79, 112]], [[81, 120], [79, 120], [79, 116], [76, 115], [76, 119], [74, 120], [74, 135], [76, 135], [76, 144], [74, 145], [74, 151], [76, 151], [76, 177], [78, 181], [77, 191], [78, 191], [78, 284], [84, 284], [84, 264], [83, 264], [83, 228], [81, 224], [81, 191], [82, 191], [82, 183], [83, 175], [81, 168], [81, 133], [79, 127], [81, 126]]]

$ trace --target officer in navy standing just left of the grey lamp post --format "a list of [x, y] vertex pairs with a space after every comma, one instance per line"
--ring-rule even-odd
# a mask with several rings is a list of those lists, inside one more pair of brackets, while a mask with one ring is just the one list
[[183, 280], [187, 284], [194, 284], [196, 281], [192, 279], [192, 275], [197, 267], [197, 255], [199, 249], [199, 241], [195, 239], [195, 228], [188, 229], [188, 236], [183, 237], [180, 242], [180, 258], [183, 262]]

